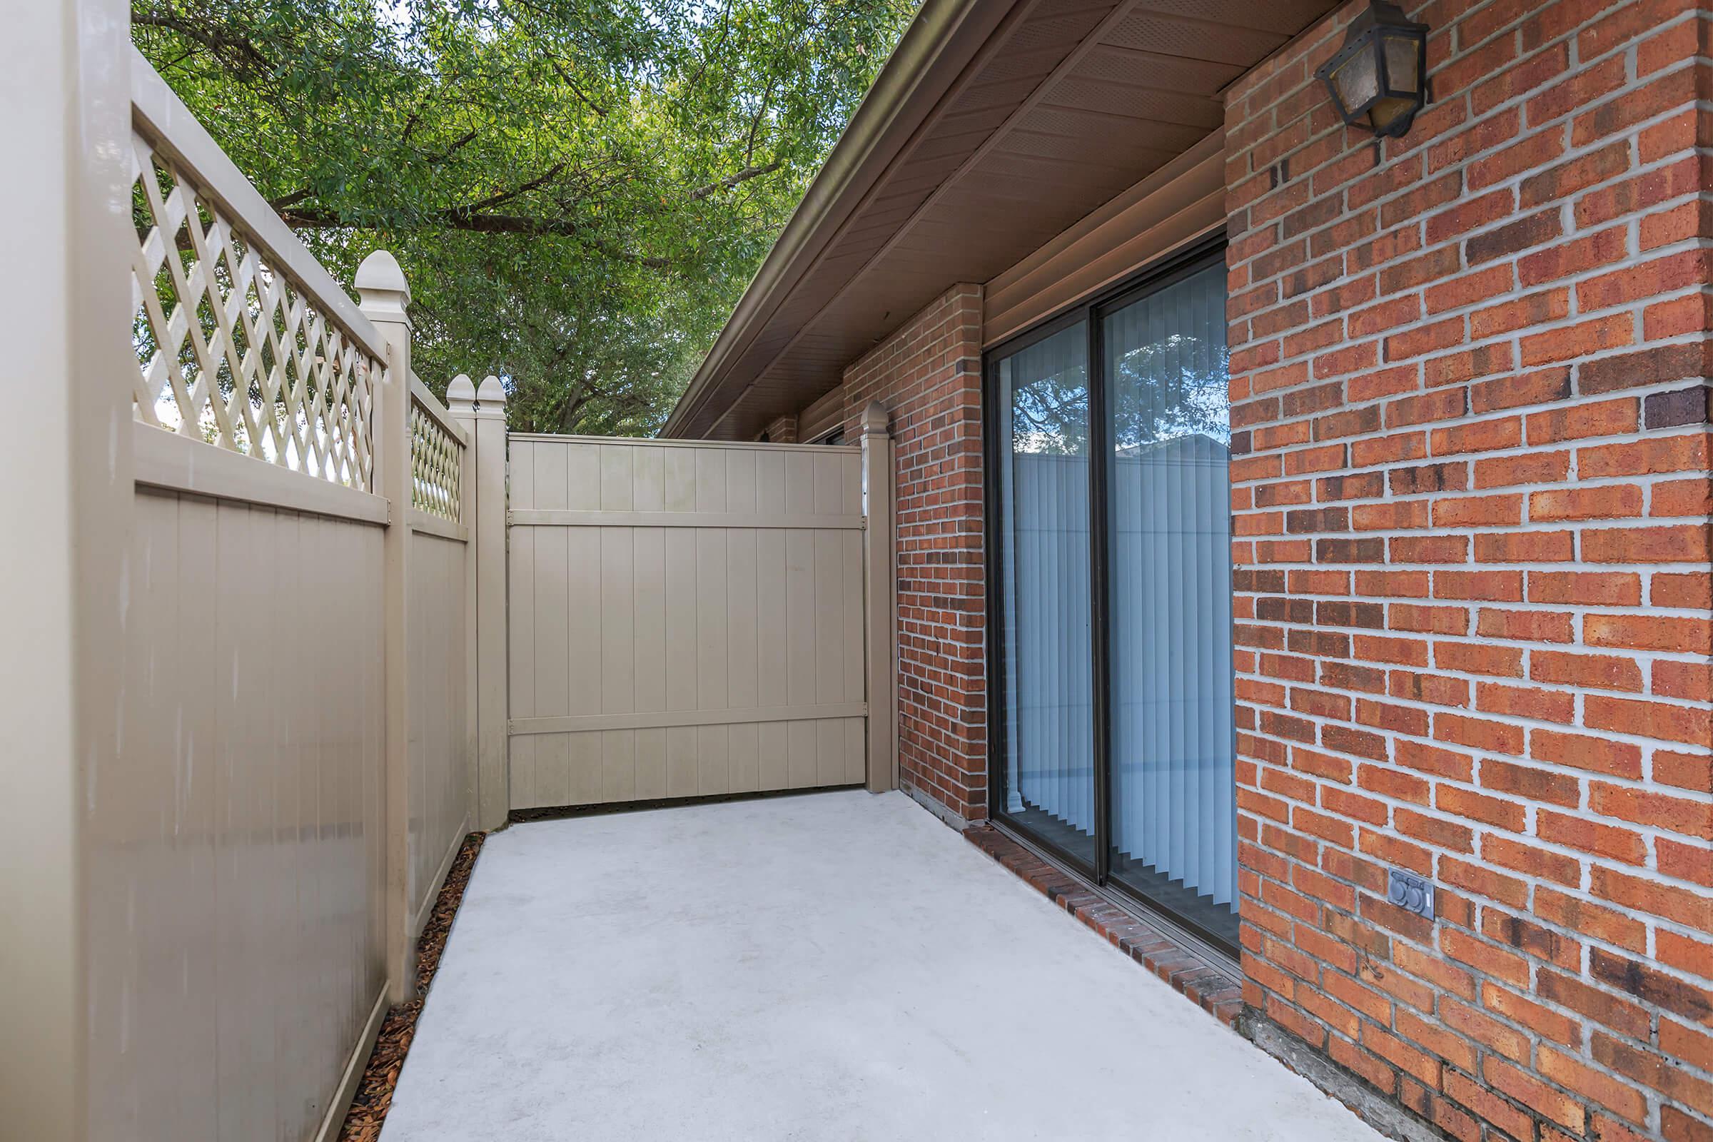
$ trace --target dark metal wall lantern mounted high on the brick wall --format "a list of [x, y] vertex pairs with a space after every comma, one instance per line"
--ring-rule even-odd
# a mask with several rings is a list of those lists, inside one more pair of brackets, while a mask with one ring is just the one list
[[1410, 22], [1386, 0], [1370, 0], [1314, 77], [1333, 92], [1345, 125], [1396, 139], [1427, 103], [1427, 24]]

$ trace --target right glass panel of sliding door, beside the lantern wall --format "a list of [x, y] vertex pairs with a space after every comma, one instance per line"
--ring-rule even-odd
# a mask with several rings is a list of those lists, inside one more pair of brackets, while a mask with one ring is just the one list
[[1225, 265], [1101, 317], [1110, 875], [1237, 943]]

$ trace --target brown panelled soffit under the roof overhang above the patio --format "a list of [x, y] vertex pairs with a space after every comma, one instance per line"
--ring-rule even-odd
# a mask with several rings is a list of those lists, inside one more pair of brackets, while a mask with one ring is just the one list
[[[925, 10], [906, 43], [970, 39], [934, 57], [966, 58], [963, 70], [904, 94], [882, 74], [848, 142], [889, 115], [872, 151], [892, 159], [815, 181], [812, 199], [845, 202], [793, 219], [666, 435], [754, 437], [838, 385], [949, 284], [1002, 276], [1204, 144], [1225, 123], [1225, 87], [1333, 3], [988, 0], [956, 29], [946, 9]], [[990, 31], [970, 46], [978, 19]], [[899, 99], [910, 106], [892, 111]]]

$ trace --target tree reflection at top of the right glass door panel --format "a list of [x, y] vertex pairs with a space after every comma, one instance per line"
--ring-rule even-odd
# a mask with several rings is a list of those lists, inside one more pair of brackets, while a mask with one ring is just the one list
[[1189, 334], [1137, 346], [1115, 361], [1112, 442], [1119, 452], [1201, 433], [1232, 442], [1230, 353]]

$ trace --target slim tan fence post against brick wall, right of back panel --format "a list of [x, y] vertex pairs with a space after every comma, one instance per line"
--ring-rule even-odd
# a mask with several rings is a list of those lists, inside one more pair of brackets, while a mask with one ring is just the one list
[[894, 676], [896, 562], [892, 539], [892, 437], [886, 407], [862, 411], [863, 622], [868, 671], [868, 793], [898, 788], [898, 680]]

